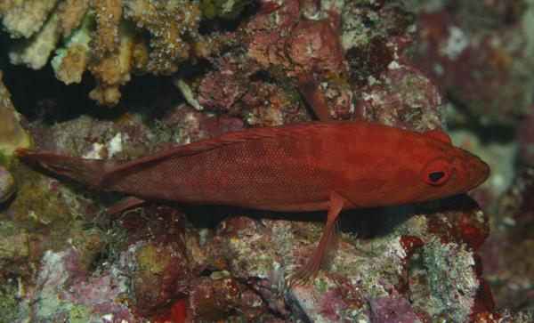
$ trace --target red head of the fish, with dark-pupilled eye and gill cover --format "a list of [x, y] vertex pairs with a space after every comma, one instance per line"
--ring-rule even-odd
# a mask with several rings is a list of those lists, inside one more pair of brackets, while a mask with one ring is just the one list
[[490, 174], [480, 157], [453, 146], [446, 133], [380, 130], [378, 143], [371, 141], [367, 150], [355, 150], [353, 166], [347, 167], [335, 188], [354, 207], [448, 198], [473, 190]]

